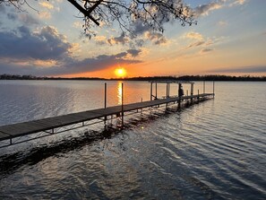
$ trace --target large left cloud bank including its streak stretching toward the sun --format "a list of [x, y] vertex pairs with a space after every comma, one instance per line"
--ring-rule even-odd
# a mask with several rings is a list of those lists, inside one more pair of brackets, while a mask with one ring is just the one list
[[0, 31], [0, 40], [0, 74], [75, 74], [142, 62], [135, 59], [142, 51], [134, 48], [113, 55], [76, 59], [72, 52], [79, 47], [67, 42], [64, 35], [50, 26], [33, 32], [26, 26]]

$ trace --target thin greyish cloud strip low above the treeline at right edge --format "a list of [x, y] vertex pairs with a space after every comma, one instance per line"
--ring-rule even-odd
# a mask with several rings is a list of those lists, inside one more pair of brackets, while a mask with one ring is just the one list
[[230, 68], [219, 68], [209, 71], [210, 73], [266, 73], [265, 65], [241, 66]]

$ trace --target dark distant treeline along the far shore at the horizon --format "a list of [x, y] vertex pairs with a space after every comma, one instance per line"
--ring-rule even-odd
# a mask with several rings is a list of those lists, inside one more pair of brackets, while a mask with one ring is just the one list
[[114, 80], [114, 81], [232, 81], [232, 82], [265, 82], [266, 76], [230, 76], [230, 75], [183, 75], [183, 76], [139, 76], [131, 78], [99, 77], [47, 77], [34, 75], [0, 74], [0, 80]]

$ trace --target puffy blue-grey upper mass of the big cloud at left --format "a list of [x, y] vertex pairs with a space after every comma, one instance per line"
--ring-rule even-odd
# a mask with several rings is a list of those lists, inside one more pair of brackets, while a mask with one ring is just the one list
[[10, 59], [64, 59], [70, 53], [72, 44], [64, 40], [53, 27], [43, 27], [30, 33], [21, 26], [15, 31], [0, 32], [0, 57]]

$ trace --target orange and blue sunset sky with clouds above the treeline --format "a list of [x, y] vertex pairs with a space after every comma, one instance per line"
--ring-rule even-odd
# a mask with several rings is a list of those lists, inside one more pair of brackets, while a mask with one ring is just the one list
[[[128, 77], [184, 74], [266, 75], [265, 0], [184, 0], [197, 25], [142, 29], [136, 39], [112, 27], [82, 37], [82, 16], [64, 0], [30, 1], [19, 13], [0, 4], [0, 74]], [[137, 29], [137, 27], [136, 27]]]

